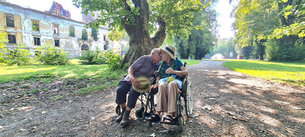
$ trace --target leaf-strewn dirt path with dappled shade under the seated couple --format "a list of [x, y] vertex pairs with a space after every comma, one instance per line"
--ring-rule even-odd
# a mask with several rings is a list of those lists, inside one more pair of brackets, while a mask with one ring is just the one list
[[182, 133], [177, 126], [148, 127], [136, 119], [135, 110], [122, 128], [115, 123], [116, 87], [83, 97], [65, 90], [82, 84], [54, 82], [45, 84], [44, 92], [25, 94], [20, 87], [42, 88], [26, 81], [0, 85], [0, 136], [305, 136], [304, 87], [249, 77], [222, 63], [187, 66], [194, 117], [184, 116]]

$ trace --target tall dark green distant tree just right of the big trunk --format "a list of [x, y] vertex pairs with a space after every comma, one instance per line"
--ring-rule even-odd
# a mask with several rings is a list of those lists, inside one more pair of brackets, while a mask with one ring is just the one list
[[197, 19], [193, 22], [193, 27], [190, 29], [190, 35], [187, 40], [179, 36], [174, 37], [174, 42], [177, 45], [177, 51], [181, 58], [188, 58], [190, 55], [194, 55], [195, 60], [201, 60], [215, 46], [218, 24], [216, 10], [214, 10], [212, 5], [216, 2], [215, 0], [208, 2], [201, 1], [207, 7], [203, 8], [201, 12], [194, 14]]

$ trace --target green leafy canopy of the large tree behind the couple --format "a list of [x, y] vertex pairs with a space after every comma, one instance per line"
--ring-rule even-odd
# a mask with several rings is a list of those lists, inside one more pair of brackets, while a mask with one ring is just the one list
[[[146, 3], [142, 0], [73, 0], [74, 5], [82, 8], [84, 14], [93, 11], [100, 11], [99, 18], [93, 23], [89, 23], [91, 27], [99, 25], [108, 25], [114, 34], [109, 34], [110, 40], [120, 38], [121, 32], [124, 31], [123, 25], [135, 25], [135, 16], [148, 16], [148, 26], [146, 31], [150, 34], [157, 33], [157, 26], [160, 21], [166, 23], [166, 34], [172, 36], [188, 36], [188, 29], [192, 27], [192, 21], [195, 19], [193, 14], [199, 12], [203, 8], [200, 0], [148, 0], [149, 14], [139, 12], [140, 8], [146, 8]], [[144, 3], [144, 4], [143, 4]], [[115, 37], [117, 36], [117, 37]], [[122, 34], [121, 34], [122, 36]]]

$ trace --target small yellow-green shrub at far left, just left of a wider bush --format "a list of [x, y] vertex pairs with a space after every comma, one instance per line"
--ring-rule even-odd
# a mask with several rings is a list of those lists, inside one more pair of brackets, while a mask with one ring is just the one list
[[10, 58], [14, 58], [11, 60], [10, 64], [16, 64], [18, 66], [27, 66], [31, 65], [34, 62], [33, 58], [30, 57], [31, 53], [28, 49], [23, 49], [23, 43], [19, 43], [19, 46], [16, 50], [10, 49]]

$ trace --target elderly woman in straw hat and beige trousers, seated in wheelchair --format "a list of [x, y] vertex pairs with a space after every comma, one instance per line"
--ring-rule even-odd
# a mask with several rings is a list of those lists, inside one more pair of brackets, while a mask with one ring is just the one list
[[[164, 49], [161, 49], [161, 62], [157, 73], [157, 84], [150, 86], [150, 90], [153, 88], [159, 88], [157, 98], [156, 114], [146, 117], [146, 121], [160, 121], [161, 112], [166, 112], [167, 116], [164, 120], [165, 123], [172, 123], [173, 117], [176, 116], [176, 103], [179, 88], [181, 88], [181, 77], [188, 76], [188, 71], [183, 66], [181, 60], [174, 58], [174, 52], [176, 48], [172, 45], [168, 45]], [[174, 76], [175, 79], [171, 82], [166, 82], [164, 79]], [[173, 77], [172, 77], [173, 78]]]

